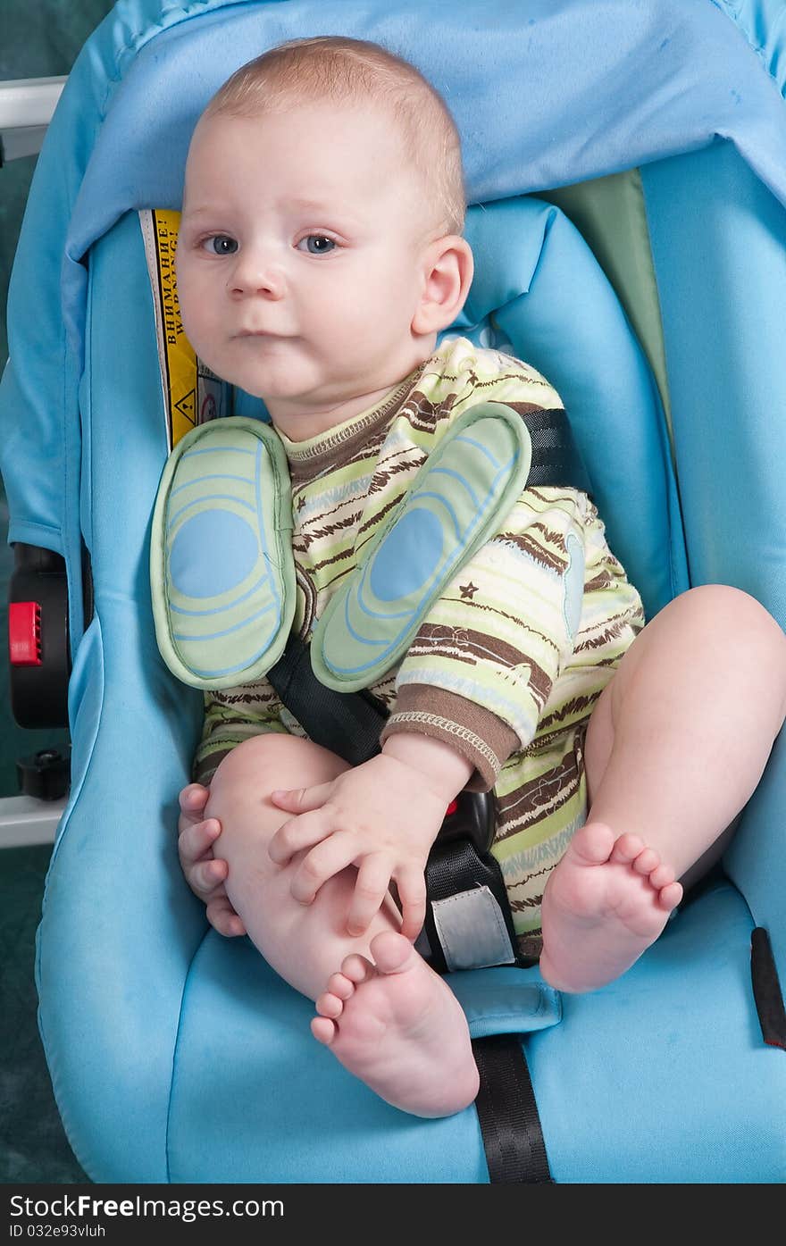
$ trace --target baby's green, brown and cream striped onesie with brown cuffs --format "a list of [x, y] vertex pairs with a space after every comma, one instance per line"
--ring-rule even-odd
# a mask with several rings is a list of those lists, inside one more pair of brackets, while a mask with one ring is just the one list
[[[457, 338], [371, 410], [308, 441], [282, 435], [298, 635], [310, 637], [451, 422], [485, 401], [522, 414], [562, 406], [534, 369]], [[643, 625], [639, 594], [587, 495], [529, 487], [445, 587], [404, 659], [371, 685], [390, 714], [382, 743], [395, 731], [431, 735], [473, 763], [468, 787], [493, 787], [492, 851], [524, 956], [539, 954], [546, 880], [585, 820], [589, 715]], [[208, 692], [193, 778], [209, 782], [234, 745], [265, 731], [306, 734], [265, 679]]]

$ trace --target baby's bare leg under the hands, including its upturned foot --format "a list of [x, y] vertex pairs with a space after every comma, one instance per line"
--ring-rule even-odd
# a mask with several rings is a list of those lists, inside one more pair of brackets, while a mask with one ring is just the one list
[[311, 905], [290, 892], [305, 856], [285, 866], [268, 844], [291, 815], [277, 787], [335, 779], [346, 763], [296, 736], [269, 734], [239, 744], [211, 784], [206, 817], [222, 824], [225, 888], [253, 943], [295, 989], [316, 1001], [314, 1037], [387, 1103], [421, 1116], [446, 1116], [477, 1094], [478, 1075], [465, 1014], [447, 984], [400, 933], [387, 897], [366, 933], [346, 932], [357, 877], [354, 866], [329, 878]]

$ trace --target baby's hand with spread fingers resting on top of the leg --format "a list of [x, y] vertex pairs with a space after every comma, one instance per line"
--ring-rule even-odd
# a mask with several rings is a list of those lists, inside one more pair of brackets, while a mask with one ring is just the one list
[[295, 852], [311, 849], [295, 870], [295, 900], [310, 905], [328, 878], [355, 865], [348, 932], [367, 930], [395, 878], [401, 933], [417, 938], [426, 916], [426, 858], [447, 807], [422, 771], [380, 754], [331, 782], [273, 791], [270, 800], [299, 815], [279, 826], [268, 845], [270, 857], [286, 865]]

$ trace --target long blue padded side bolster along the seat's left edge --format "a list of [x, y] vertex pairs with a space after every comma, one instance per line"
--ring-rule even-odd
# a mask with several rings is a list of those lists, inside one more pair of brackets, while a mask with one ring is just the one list
[[[169, 677], [151, 630], [149, 515], [166, 435], [136, 213], [97, 243], [91, 288], [113, 310], [90, 320], [96, 371], [82, 386], [85, 480], [92, 478], [82, 512], [96, 616], [70, 685], [72, 787], [39, 927], [39, 1018], [55, 1098], [85, 1171], [166, 1181], [181, 996], [204, 933], [174, 839], [202, 697]], [[130, 462], [133, 471], [117, 470]], [[107, 1060], [117, 1047], [120, 1068]]]

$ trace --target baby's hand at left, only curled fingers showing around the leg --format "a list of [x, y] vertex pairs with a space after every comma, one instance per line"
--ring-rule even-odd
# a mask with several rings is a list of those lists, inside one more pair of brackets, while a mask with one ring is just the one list
[[178, 796], [181, 815], [177, 822], [177, 852], [181, 868], [193, 893], [207, 905], [207, 918], [219, 934], [245, 934], [245, 927], [229, 902], [224, 880], [229, 872], [225, 861], [213, 855], [220, 835], [215, 817], [203, 820], [209, 791], [201, 784], [188, 784]]

